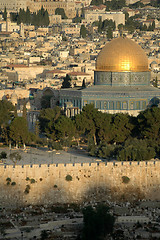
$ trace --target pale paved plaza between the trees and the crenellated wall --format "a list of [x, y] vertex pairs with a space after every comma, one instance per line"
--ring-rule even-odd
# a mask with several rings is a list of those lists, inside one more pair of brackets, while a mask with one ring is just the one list
[[60, 150], [48, 150], [48, 148], [26, 148], [23, 149], [9, 149], [1, 148], [0, 152], [7, 153], [7, 159], [1, 161], [0, 164], [13, 165], [13, 161], [9, 159], [10, 153], [18, 152], [21, 155], [21, 160], [17, 161], [16, 165], [23, 164], [52, 164], [52, 163], [91, 163], [101, 161], [95, 157], [91, 157], [84, 150], [69, 149], [67, 152]]

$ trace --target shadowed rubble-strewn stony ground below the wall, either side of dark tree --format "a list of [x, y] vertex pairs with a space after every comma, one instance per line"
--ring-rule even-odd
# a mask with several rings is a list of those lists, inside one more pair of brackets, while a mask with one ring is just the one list
[[[93, 207], [95, 206], [94, 203]], [[159, 202], [137, 203], [107, 202], [110, 213], [115, 217], [114, 238], [159, 239]], [[87, 204], [86, 204], [87, 206]], [[60, 213], [60, 211], [62, 213]], [[1, 239], [41, 239], [42, 233], [54, 239], [73, 240], [83, 228], [83, 214], [79, 206], [28, 206], [1, 209]], [[107, 236], [108, 239], [113, 239]]]

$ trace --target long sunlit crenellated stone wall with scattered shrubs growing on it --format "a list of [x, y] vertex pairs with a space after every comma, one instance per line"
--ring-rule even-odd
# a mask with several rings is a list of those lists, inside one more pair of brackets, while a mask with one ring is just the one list
[[[66, 180], [67, 175], [71, 181]], [[107, 199], [160, 200], [158, 161], [7, 165], [0, 166], [0, 176], [1, 207]]]

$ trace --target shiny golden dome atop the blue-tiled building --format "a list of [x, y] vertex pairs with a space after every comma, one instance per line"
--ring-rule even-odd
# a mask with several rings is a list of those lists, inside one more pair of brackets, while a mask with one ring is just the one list
[[119, 37], [107, 43], [99, 53], [96, 71], [146, 72], [149, 71], [148, 58], [137, 43]]

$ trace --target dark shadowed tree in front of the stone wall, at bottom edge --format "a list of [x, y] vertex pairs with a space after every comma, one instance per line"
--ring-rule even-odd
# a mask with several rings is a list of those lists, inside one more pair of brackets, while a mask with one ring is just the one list
[[95, 209], [91, 206], [83, 209], [83, 221], [82, 240], [98, 240], [113, 232], [115, 220], [107, 206], [98, 205]]

